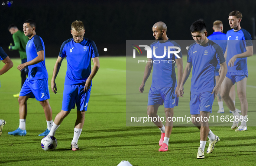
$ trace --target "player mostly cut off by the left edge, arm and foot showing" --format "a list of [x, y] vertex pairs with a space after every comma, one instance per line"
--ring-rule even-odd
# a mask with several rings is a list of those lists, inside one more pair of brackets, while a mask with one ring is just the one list
[[[4, 66], [0, 69], [0, 75], [6, 73], [9, 69], [13, 67], [13, 62], [10, 60], [9, 56], [4, 52], [3, 48], [0, 47], [0, 60], [3, 61]], [[0, 62], [1, 62], [0, 61]], [[1, 87], [1, 85], [0, 85]], [[3, 126], [6, 124], [5, 120], [0, 119], [0, 136], [2, 135]]]

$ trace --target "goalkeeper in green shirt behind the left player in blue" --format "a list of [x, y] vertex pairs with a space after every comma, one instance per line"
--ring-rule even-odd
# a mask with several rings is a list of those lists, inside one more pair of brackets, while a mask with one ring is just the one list
[[[11, 24], [8, 27], [8, 31], [13, 35], [13, 41], [14, 45], [10, 44], [9, 50], [18, 50], [19, 51], [19, 56], [21, 59], [21, 63], [26, 63], [27, 62], [27, 55], [26, 55], [26, 44], [29, 41], [29, 38], [24, 35], [24, 32], [20, 31], [16, 25]], [[21, 87], [23, 86], [25, 80], [26, 80], [26, 75], [29, 73], [29, 68], [26, 66], [24, 69], [20, 71], [20, 76], [21, 76]], [[13, 94], [13, 97], [19, 97], [18, 94]]]

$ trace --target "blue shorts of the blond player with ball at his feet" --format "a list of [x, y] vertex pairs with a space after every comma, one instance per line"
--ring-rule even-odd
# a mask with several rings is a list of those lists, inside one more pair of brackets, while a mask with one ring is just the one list
[[62, 110], [70, 111], [75, 108], [76, 104], [77, 110], [87, 111], [90, 95], [91, 86], [85, 93], [84, 85], [64, 85]]

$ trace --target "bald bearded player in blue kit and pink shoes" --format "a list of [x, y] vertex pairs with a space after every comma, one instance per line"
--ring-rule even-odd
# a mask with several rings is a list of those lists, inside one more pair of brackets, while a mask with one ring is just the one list
[[[156, 56], [163, 56], [167, 54], [169, 46], [180, 48], [180, 46], [175, 41], [171, 41], [167, 37], [167, 27], [164, 22], [156, 22], [156, 24], [152, 27], [152, 31], [153, 36], [156, 39], [156, 42], [150, 45], [153, 52], [152, 54], [155, 54]], [[156, 48], [155, 53], [153, 51], [154, 47]], [[175, 51], [176, 49], [172, 50]], [[169, 138], [173, 126], [173, 122], [168, 119], [169, 117], [173, 117], [174, 106], [178, 106], [178, 89], [183, 74], [182, 53], [179, 52], [178, 56], [179, 58], [172, 53], [170, 54], [169, 58], [167, 55], [162, 58], [156, 58], [155, 56], [152, 56], [152, 59], [149, 58], [145, 67], [143, 81], [139, 87], [139, 92], [143, 93], [145, 83], [149, 78], [153, 67], [152, 85], [149, 91], [147, 114], [149, 117], [157, 118], [158, 108], [164, 103], [166, 116], [165, 126], [161, 121], [153, 121], [162, 133], [159, 140], [159, 146], [161, 146], [159, 151], [168, 150]], [[153, 63], [154, 60], [160, 60], [161, 63]], [[178, 67], [178, 84], [176, 81], [175, 63]]]

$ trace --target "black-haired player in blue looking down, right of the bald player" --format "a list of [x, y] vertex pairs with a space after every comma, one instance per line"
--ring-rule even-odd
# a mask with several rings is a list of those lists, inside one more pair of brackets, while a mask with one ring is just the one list
[[[208, 118], [214, 98], [226, 75], [227, 64], [221, 47], [207, 39], [206, 25], [202, 19], [195, 21], [191, 25], [190, 32], [195, 43], [188, 48], [187, 65], [178, 93], [180, 97], [183, 97], [183, 85], [187, 81], [193, 66], [189, 106], [192, 123], [200, 129], [200, 147], [198, 148], [197, 158], [203, 159], [207, 135], [209, 138], [207, 153], [211, 153], [215, 144], [220, 141], [220, 138], [209, 129]], [[215, 85], [217, 63], [220, 64], [222, 72], [219, 81]], [[196, 120], [197, 117], [202, 117], [200, 122]], [[205, 117], [207, 117], [207, 120], [205, 120]]]

